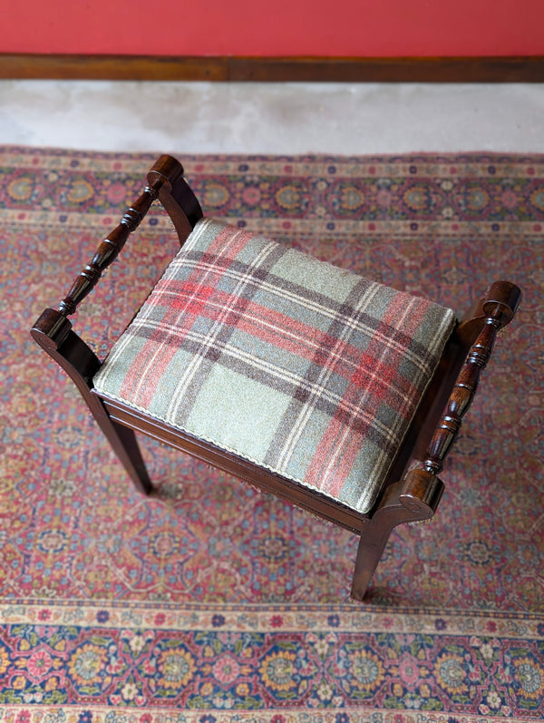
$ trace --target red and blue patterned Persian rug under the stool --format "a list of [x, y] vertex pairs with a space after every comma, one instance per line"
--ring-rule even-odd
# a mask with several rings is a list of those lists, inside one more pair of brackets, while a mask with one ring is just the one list
[[[142, 497], [28, 335], [154, 160], [0, 148], [0, 721], [544, 718], [544, 157], [180, 158], [207, 215], [460, 315], [523, 289], [363, 603], [355, 535], [147, 439]], [[74, 318], [99, 356], [175, 249], [153, 207]]]

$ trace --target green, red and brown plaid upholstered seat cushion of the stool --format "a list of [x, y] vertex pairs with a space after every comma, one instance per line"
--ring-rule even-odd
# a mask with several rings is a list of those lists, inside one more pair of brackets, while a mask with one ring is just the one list
[[365, 513], [453, 324], [450, 309], [201, 220], [94, 385]]

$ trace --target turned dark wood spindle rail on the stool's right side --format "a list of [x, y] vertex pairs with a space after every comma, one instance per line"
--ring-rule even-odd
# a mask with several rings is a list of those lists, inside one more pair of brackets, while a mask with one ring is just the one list
[[491, 357], [497, 332], [513, 317], [520, 302], [520, 289], [506, 281], [493, 284], [482, 308], [485, 323], [461, 368], [453, 386], [442, 420], [438, 425], [423, 461], [423, 469], [440, 474], [444, 459], [461, 429], [462, 419], [469, 410], [481, 378], [481, 372]]

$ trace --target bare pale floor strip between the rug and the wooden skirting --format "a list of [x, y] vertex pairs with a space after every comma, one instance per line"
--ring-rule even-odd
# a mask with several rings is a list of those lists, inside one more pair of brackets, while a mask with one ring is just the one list
[[0, 81], [0, 142], [178, 153], [544, 152], [544, 84]]

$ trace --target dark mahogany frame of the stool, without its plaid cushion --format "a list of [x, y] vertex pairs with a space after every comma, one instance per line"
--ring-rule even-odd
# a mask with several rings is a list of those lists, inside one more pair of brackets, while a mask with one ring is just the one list
[[[183, 179], [180, 163], [170, 156], [161, 156], [148, 174], [148, 185], [141, 197], [126, 211], [120, 225], [102, 241], [59, 308], [45, 309], [34, 324], [32, 336], [72, 377], [127, 473], [142, 492], [151, 492], [151, 481], [134, 432], [192, 454], [310, 513], [360, 534], [352, 596], [361, 600], [393, 527], [428, 519], [436, 511], [443, 490], [437, 474], [442, 471], [443, 460], [459, 432], [462, 417], [471, 405], [481, 370], [491, 356], [496, 333], [515, 314], [520, 302], [520, 289], [508, 281], [496, 282], [472, 312], [457, 324], [374, 509], [366, 514], [357, 513], [305, 485], [182, 433], [128, 405], [100, 397], [93, 390], [92, 378], [101, 363], [90, 347], [73, 332], [68, 316], [73, 314], [101, 278], [103, 270], [118, 256], [156, 198], [169, 212], [183, 244], [202, 217], [202, 211]], [[414, 467], [414, 459], [423, 462]], [[410, 471], [406, 474], [409, 464]]]

